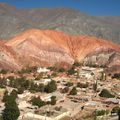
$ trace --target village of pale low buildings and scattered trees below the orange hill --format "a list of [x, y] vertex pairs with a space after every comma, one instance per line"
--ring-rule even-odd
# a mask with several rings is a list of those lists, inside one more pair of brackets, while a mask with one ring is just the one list
[[17, 91], [18, 120], [117, 120], [120, 79], [102, 67], [38, 67], [0, 74], [0, 114], [5, 93]]

